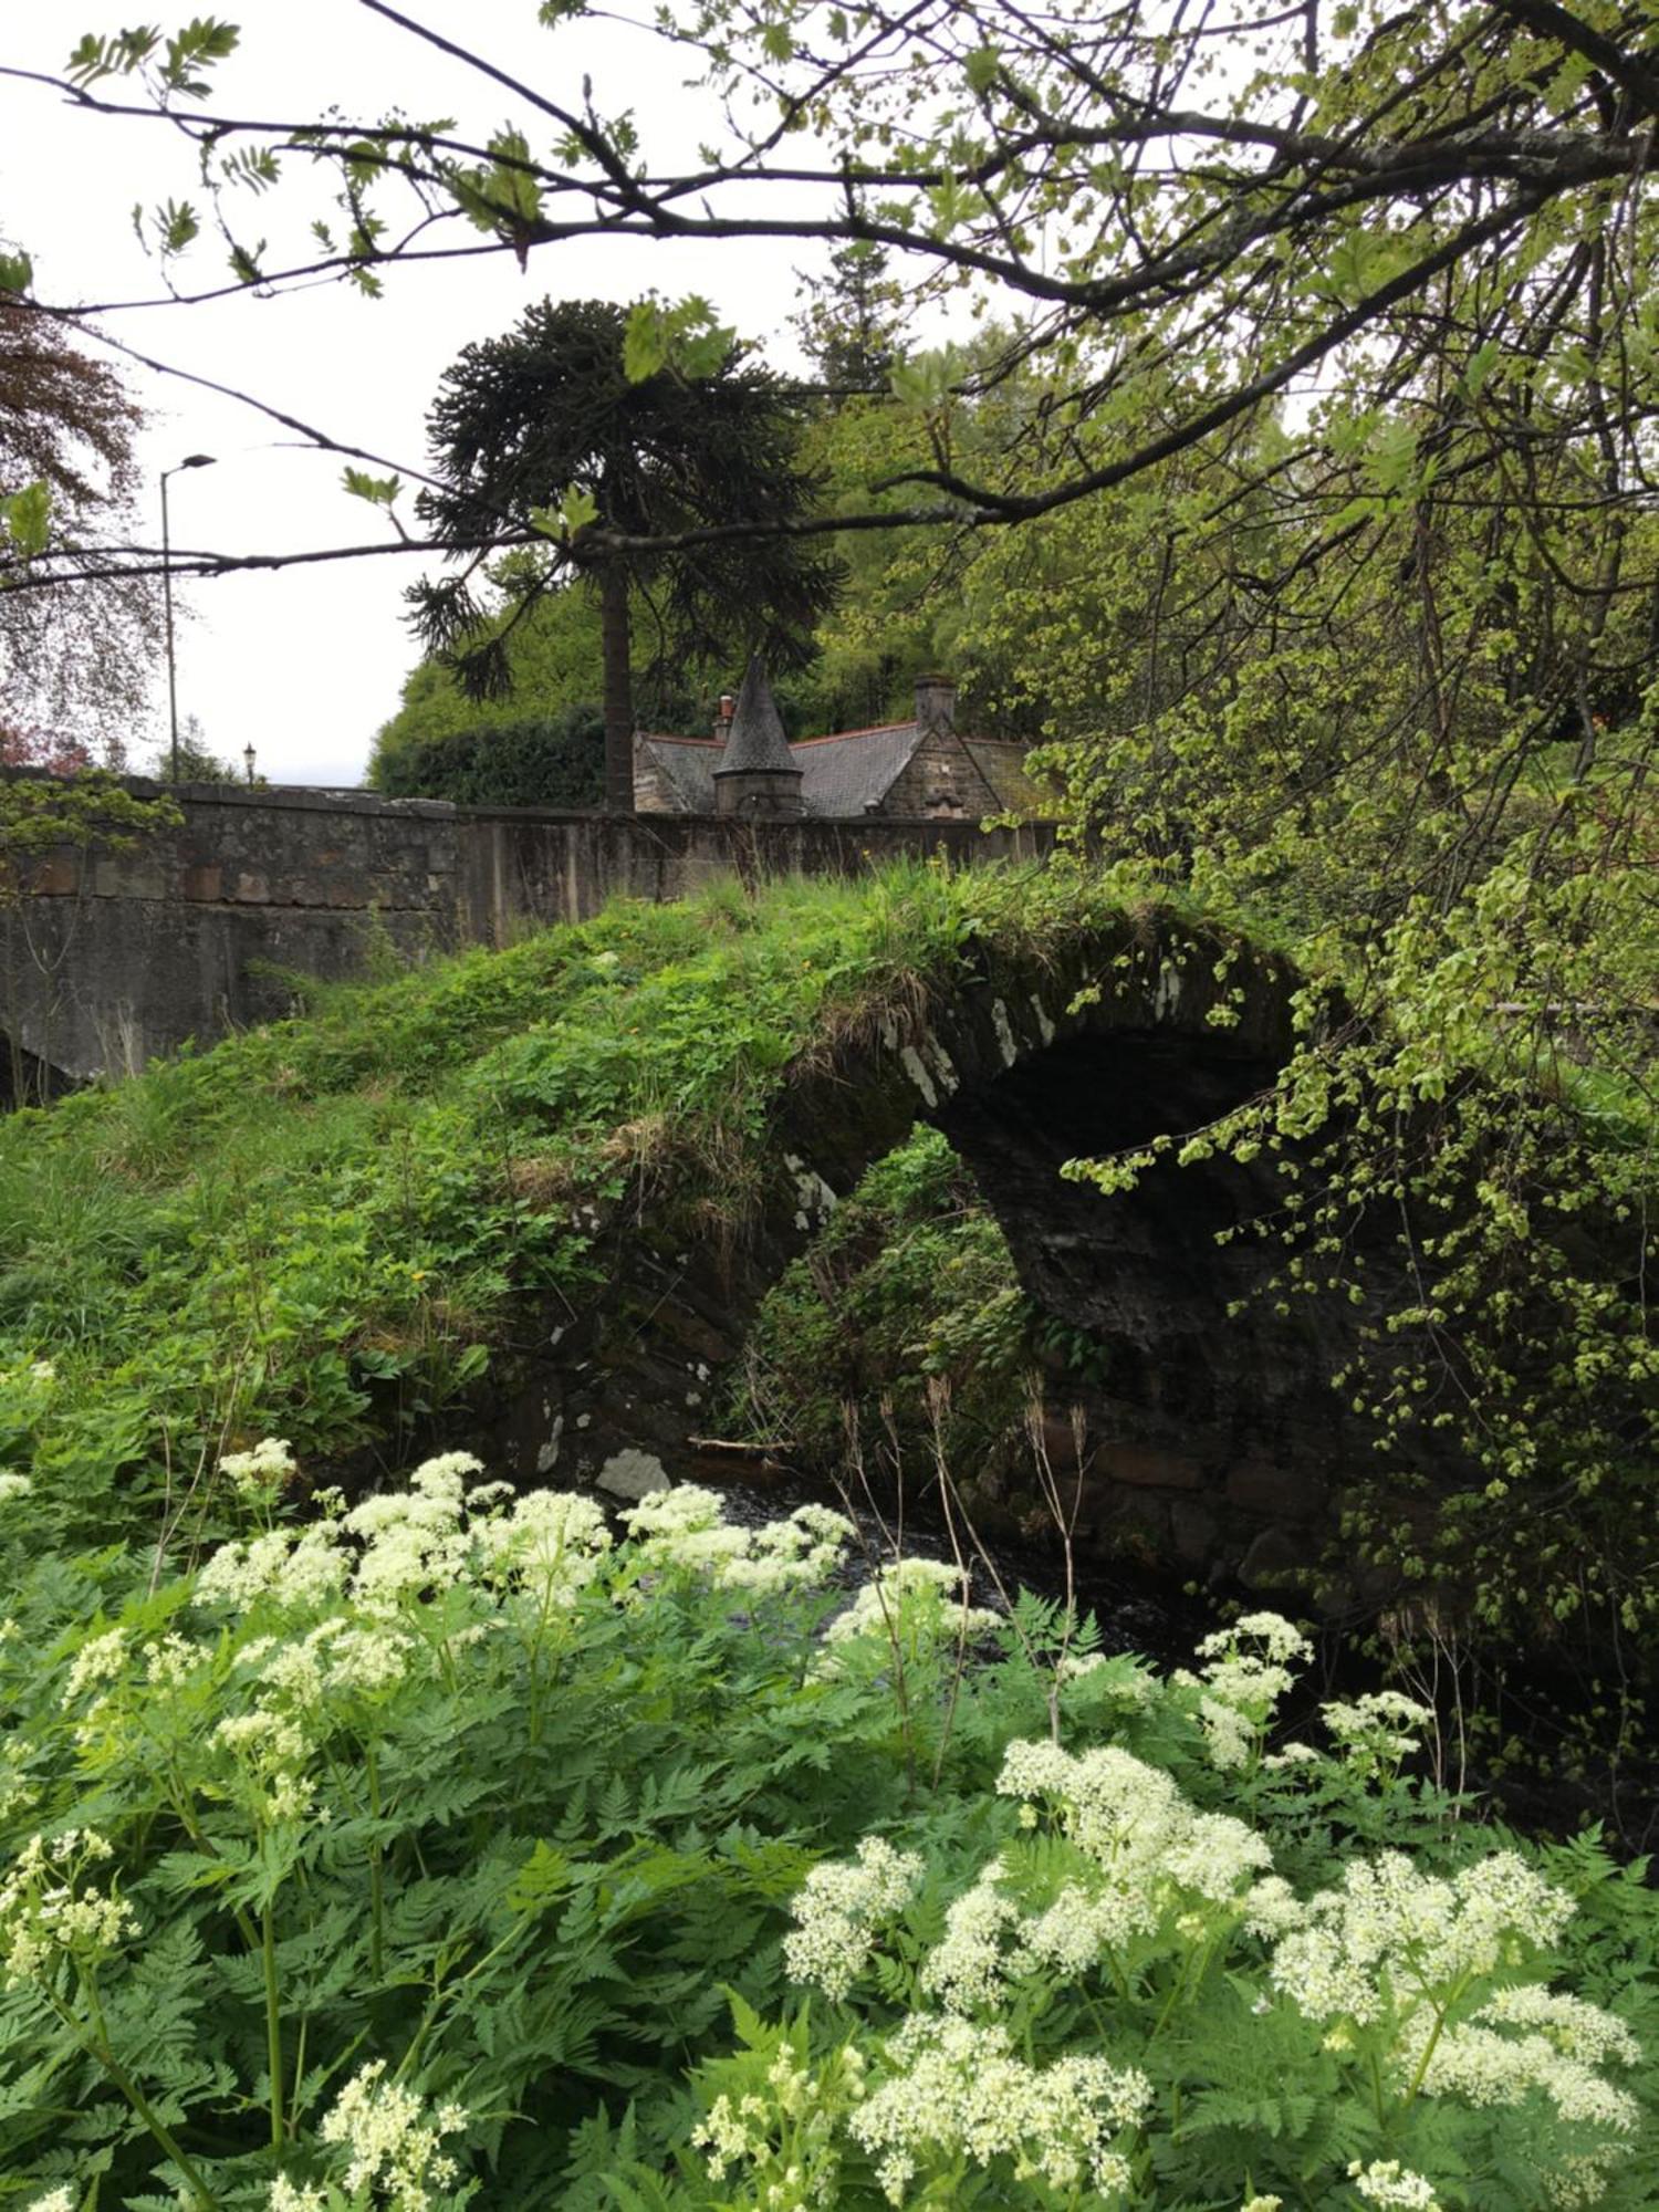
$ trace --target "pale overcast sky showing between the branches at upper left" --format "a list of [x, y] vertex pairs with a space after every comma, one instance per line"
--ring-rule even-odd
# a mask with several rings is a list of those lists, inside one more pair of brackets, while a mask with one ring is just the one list
[[[223, 111], [301, 119], [338, 104], [363, 117], [398, 104], [422, 119], [456, 115], [462, 133], [478, 137], [507, 115], [500, 88], [352, 0], [226, 0], [223, 13], [243, 29], [241, 51], [217, 71], [215, 106]], [[681, 86], [684, 58], [641, 33], [611, 24], [551, 33], [535, 22], [535, 0], [425, 0], [409, 13], [571, 104], [591, 71], [602, 113], [633, 106], [653, 155], [675, 144], [690, 153], [712, 135], [706, 100]], [[115, 31], [131, 11], [111, 11], [106, 0], [0, 0], [0, 20], [9, 66], [62, 73], [82, 31]], [[190, 150], [166, 128], [77, 115], [42, 86], [0, 80], [0, 239], [29, 250], [40, 299], [84, 305], [155, 296], [157, 270], [133, 237], [131, 208], [192, 197], [190, 186]], [[250, 223], [272, 248], [285, 239], [292, 259], [305, 259], [305, 223], [330, 212], [325, 201], [321, 173], [292, 170]], [[776, 365], [794, 367], [799, 349], [785, 323], [796, 307], [794, 265], [807, 259], [805, 248], [750, 241], [668, 248], [580, 239], [531, 254], [529, 274], [502, 254], [387, 272], [380, 301], [330, 285], [265, 301], [104, 314], [102, 327], [347, 445], [420, 467], [425, 411], [458, 347], [507, 330], [542, 294], [626, 301], [650, 288], [668, 296], [706, 292], [723, 321], [765, 341]], [[184, 274], [204, 283], [221, 272], [223, 250], [208, 239], [184, 263]], [[263, 553], [383, 535], [374, 509], [341, 491], [338, 456], [296, 449], [252, 409], [175, 378], [133, 372], [128, 389], [150, 411], [142, 442], [150, 482], [186, 453], [217, 458], [217, 467], [170, 482], [175, 549]], [[159, 540], [155, 500], [146, 535]], [[221, 757], [241, 761], [252, 743], [272, 781], [356, 783], [418, 657], [403, 624], [403, 586], [418, 573], [416, 560], [389, 555], [184, 586], [190, 619], [177, 646], [181, 717], [197, 714]], [[137, 761], [164, 737], [166, 684], [157, 679], [150, 723], [131, 732], [128, 752]]]

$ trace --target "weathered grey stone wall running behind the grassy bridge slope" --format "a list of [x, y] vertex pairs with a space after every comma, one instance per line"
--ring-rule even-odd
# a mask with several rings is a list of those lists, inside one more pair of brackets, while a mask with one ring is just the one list
[[[131, 790], [157, 785], [131, 779]], [[613, 896], [686, 898], [721, 876], [854, 876], [911, 854], [1037, 860], [1051, 823], [730, 821], [465, 810], [367, 792], [199, 783], [179, 830], [124, 854], [60, 852], [0, 907], [0, 1031], [60, 1077], [126, 1073], [188, 1037], [292, 1009], [292, 973], [504, 947]], [[2, 1055], [0, 1055], [2, 1057]]]

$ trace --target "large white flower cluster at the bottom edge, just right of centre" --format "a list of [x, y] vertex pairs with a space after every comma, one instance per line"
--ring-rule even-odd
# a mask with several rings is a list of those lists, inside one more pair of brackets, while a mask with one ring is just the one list
[[849, 2119], [854, 2139], [876, 2157], [889, 2203], [902, 2205], [920, 2159], [938, 2152], [989, 2166], [1015, 2161], [1015, 2179], [1042, 2177], [1053, 2190], [1084, 2185], [1119, 2197], [1130, 2168], [1113, 2135], [1137, 2126], [1152, 2084], [1137, 2068], [1102, 2057], [1026, 2066], [1009, 2031], [960, 2017], [911, 2015], [887, 2044], [887, 2079]]

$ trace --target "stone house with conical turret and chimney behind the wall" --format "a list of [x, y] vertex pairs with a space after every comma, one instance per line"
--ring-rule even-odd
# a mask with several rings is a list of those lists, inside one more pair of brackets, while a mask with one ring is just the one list
[[641, 814], [818, 816], [863, 821], [980, 821], [1048, 812], [1026, 781], [1026, 748], [964, 737], [956, 684], [920, 677], [909, 721], [836, 730], [792, 745], [759, 661], [721, 699], [712, 737], [635, 739], [633, 790]]

